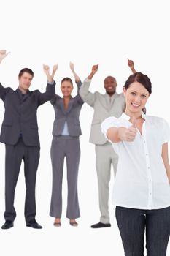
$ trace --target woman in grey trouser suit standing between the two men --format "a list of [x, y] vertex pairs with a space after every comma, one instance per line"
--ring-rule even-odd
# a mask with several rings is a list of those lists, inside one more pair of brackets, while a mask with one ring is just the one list
[[77, 226], [75, 219], [80, 217], [80, 209], [77, 195], [77, 175], [80, 162], [80, 141], [82, 134], [80, 129], [80, 110], [83, 101], [79, 95], [81, 81], [74, 72], [74, 64], [70, 63], [70, 68], [77, 83], [78, 93], [72, 97], [73, 84], [70, 78], [63, 78], [61, 81], [61, 91], [63, 97], [55, 94], [50, 101], [55, 110], [55, 121], [53, 124], [53, 140], [51, 146], [51, 161], [53, 167], [53, 189], [50, 205], [50, 216], [55, 217], [54, 225], [61, 226], [62, 211], [62, 178], [63, 161], [66, 157], [67, 167], [67, 211], [66, 217], [70, 219], [72, 226]]

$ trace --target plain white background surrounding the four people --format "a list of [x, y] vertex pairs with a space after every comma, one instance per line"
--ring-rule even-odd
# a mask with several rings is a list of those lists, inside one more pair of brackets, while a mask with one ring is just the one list
[[[1, 63], [0, 80], [4, 86], [18, 87], [18, 72], [23, 67], [34, 70], [31, 90], [45, 91], [46, 77], [42, 64], [58, 62], [56, 91], [65, 76], [73, 78], [69, 61], [84, 80], [93, 64], [99, 64], [91, 91], [104, 93], [107, 75], [117, 78], [117, 91], [122, 91], [130, 75], [127, 58], [136, 70], [149, 75], [152, 95], [147, 114], [169, 121], [169, 1], [137, 0], [42, 0], [0, 1], [0, 49], [11, 53]], [[76, 88], [76, 86], [75, 86]], [[74, 90], [73, 95], [76, 93]], [[4, 106], [0, 102], [0, 123]], [[38, 110], [41, 158], [36, 181], [37, 221], [42, 230], [25, 226], [23, 217], [25, 184], [23, 165], [15, 192], [17, 218], [15, 227], [0, 230], [3, 255], [123, 255], [114, 207], [109, 200], [111, 228], [92, 230], [98, 222], [98, 186], [94, 146], [88, 143], [93, 109], [82, 107], [80, 138], [82, 156], [79, 174], [81, 218], [78, 227], [66, 219], [66, 168], [63, 176], [62, 227], [53, 227], [49, 216], [51, 194], [50, 143], [54, 111], [47, 102]], [[0, 145], [0, 224], [4, 223], [4, 145]], [[110, 181], [112, 193], [113, 177]], [[169, 255], [170, 246], [167, 255]]]

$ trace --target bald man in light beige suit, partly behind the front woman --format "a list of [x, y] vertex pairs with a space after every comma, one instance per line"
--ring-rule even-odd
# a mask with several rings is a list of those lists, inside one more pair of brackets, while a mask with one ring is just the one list
[[[134, 62], [128, 60], [128, 66], [134, 73]], [[122, 94], [117, 94], [116, 79], [108, 76], [104, 79], [105, 94], [98, 91], [91, 93], [89, 86], [93, 75], [97, 72], [98, 65], [94, 65], [80, 88], [80, 96], [82, 100], [94, 108], [93, 120], [90, 131], [90, 143], [95, 144], [96, 150], [96, 170], [98, 176], [98, 194], [99, 207], [101, 211], [100, 222], [92, 225], [93, 228], [110, 227], [109, 223], [109, 181], [111, 164], [114, 168], [114, 173], [117, 170], [117, 154], [113, 151], [111, 143], [109, 143], [101, 133], [101, 123], [109, 116], [119, 117], [125, 108], [125, 99]]]

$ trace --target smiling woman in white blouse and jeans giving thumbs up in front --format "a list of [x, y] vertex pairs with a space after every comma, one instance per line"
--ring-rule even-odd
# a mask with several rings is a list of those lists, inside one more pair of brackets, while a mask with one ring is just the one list
[[147, 75], [136, 72], [123, 87], [126, 108], [102, 124], [119, 156], [113, 201], [125, 256], [165, 256], [170, 234], [169, 124], [143, 110], [152, 92]]

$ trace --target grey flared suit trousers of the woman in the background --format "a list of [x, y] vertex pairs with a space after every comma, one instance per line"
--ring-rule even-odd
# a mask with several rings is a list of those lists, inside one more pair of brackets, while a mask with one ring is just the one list
[[62, 212], [62, 179], [64, 157], [66, 157], [68, 184], [66, 217], [69, 219], [76, 219], [80, 217], [77, 195], [77, 176], [80, 162], [79, 137], [63, 135], [53, 136], [51, 146], [53, 188], [50, 205], [50, 216], [55, 218], [61, 218]]

